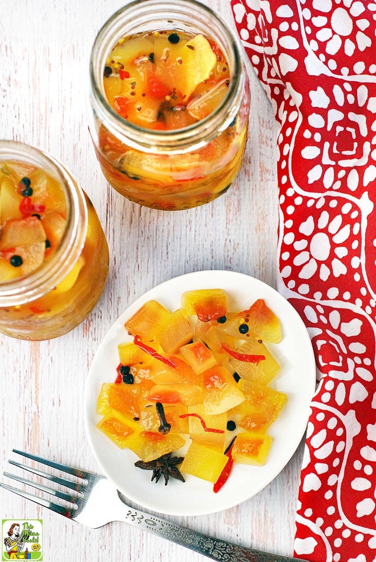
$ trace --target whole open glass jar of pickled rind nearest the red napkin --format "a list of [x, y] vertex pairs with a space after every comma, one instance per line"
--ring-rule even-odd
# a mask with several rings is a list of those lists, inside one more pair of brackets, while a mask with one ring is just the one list
[[105, 24], [91, 57], [90, 132], [118, 192], [177, 210], [227, 191], [250, 105], [240, 49], [213, 12], [186, 0], [134, 3]]

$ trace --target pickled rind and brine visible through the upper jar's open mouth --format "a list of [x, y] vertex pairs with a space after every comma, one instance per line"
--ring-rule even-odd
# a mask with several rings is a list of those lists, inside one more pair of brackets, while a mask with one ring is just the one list
[[107, 101], [117, 114], [157, 130], [181, 129], [210, 115], [231, 80], [213, 40], [177, 30], [121, 38], [103, 74]]

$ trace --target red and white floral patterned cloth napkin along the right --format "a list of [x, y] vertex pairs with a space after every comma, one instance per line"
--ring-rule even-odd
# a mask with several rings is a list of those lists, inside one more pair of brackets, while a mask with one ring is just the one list
[[231, 6], [281, 125], [278, 289], [305, 321], [319, 375], [295, 556], [374, 562], [376, 3]]

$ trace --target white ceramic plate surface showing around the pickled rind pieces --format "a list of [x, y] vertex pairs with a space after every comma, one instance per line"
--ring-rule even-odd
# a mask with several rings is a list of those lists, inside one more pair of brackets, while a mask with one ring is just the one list
[[[236, 464], [231, 477], [218, 493], [213, 484], [185, 475], [182, 483], [173, 478], [151, 482], [152, 472], [135, 468], [136, 455], [121, 450], [95, 427], [97, 397], [103, 382], [113, 382], [118, 365], [118, 343], [131, 341], [124, 323], [143, 305], [154, 299], [168, 310], [180, 307], [181, 294], [191, 289], [221, 288], [229, 309], [245, 310], [263, 298], [282, 325], [282, 342], [270, 345], [281, 372], [271, 386], [286, 392], [288, 400], [269, 429], [273, 437], [264, 466]], [[262, 490], [277, 476], [294, 454], [305, 432], [310, 401], [315, 389], [315, 362], [308, 332], [295, 309], [277, 291], [258, 279], [233, 271], [198, 271], [176, 277], [154, 287], [136, 300], [116, 320], [100, 344], [91, 364], [85, 387], [85, 425], [91, 448], [102, 469], [126, 497], [146, 509], [171, 515], [202, 515], [240, 504]]]

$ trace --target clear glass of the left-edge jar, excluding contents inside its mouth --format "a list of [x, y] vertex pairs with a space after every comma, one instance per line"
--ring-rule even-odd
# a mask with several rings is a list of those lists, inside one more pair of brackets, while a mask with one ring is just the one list
[[[62, 164], [37, 148], [8, 140], [0, 141], [0, 204], [3, 209], [12, 203], [10, 197], [15, 198], [16, 206], [19, 204], [19, 194], [13, 189], [11, 195], [7, 195], [4, 185], [11, 164], [20, 170], [20, 176], [23, 169], [36, 169], [48, 174], [61, 187], [66, 220], [56, 249], [38, 268], [0, 282], [0, 333], [29, 340], [56, 338], [79, 325], [103, 292], [109, 261], [106, 237], [88, 196]], [[9, 250], [4, 249], [3, 237], [2, 225], [0, 258], [8, 260], [5, 264], [3, 261], [3, 265], [9, 268]], [[45, 245], [47, 247], [47, 243]], [[33, 244], [29, 248], [33, 248]]]

